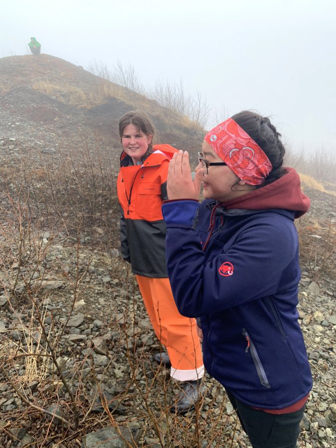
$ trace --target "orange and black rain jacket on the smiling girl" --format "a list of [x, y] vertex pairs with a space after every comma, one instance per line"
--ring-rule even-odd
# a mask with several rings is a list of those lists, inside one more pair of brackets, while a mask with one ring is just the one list
[[130, 156], [120, 156], [117, 178], [121, 209], [121, 255], [134, 274], [167, 278], [165, 237], [161, 205], [167, 198], [169, 160], [178, 149], [154, 145], [142, 165], [129, 165]]

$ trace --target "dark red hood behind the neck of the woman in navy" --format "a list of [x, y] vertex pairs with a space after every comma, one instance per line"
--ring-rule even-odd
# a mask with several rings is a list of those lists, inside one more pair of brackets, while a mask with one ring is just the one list
[[302, 193], [300, 176], [295, 169], [285, 169], [287, 174], [280, 179], [222, 205], [226, 210], [291, 210], [294, 212], [294, 218], [300, 218], [308, 212], [310, 199]]

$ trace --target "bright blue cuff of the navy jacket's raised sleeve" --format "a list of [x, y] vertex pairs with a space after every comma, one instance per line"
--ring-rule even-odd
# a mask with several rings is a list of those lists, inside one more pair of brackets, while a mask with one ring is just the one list
[[165, 202], [163, 219], [166, 224], [192, 225], [199, 206], [199, 202], [192, 199]]

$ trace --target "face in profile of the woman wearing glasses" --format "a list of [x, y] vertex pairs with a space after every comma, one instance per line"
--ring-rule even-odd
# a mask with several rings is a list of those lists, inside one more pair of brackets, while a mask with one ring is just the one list
[[[216, 154], [212, 147], [205, 140], [202, 145], [203, 157], [209, 162], [223, 162], [221, 157]], [[202, 164], [196, 167], [196, 171], [203, 169]], [[203, 174], [203, 197], [205, 199], [215, 199], [219, 202], [227, 202], [231, 199], [245, 195], [254, 187], [245, 184], [240, 180], [227, 165], [209, 166]], [[236, 185], [237, 184], [237, 185]], [[232, 188], [232, 186], [234, 187]]]

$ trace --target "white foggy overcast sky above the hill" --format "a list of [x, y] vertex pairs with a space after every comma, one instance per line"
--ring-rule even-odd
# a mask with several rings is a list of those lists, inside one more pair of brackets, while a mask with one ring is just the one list
[[[228, 116], [271, 115], [293, 149], [336, 154], [336, 1], [3, 1], [0, 57], [42, 53], [178, 82]], [[213, 123], [215, 124], [215, 123]]]

